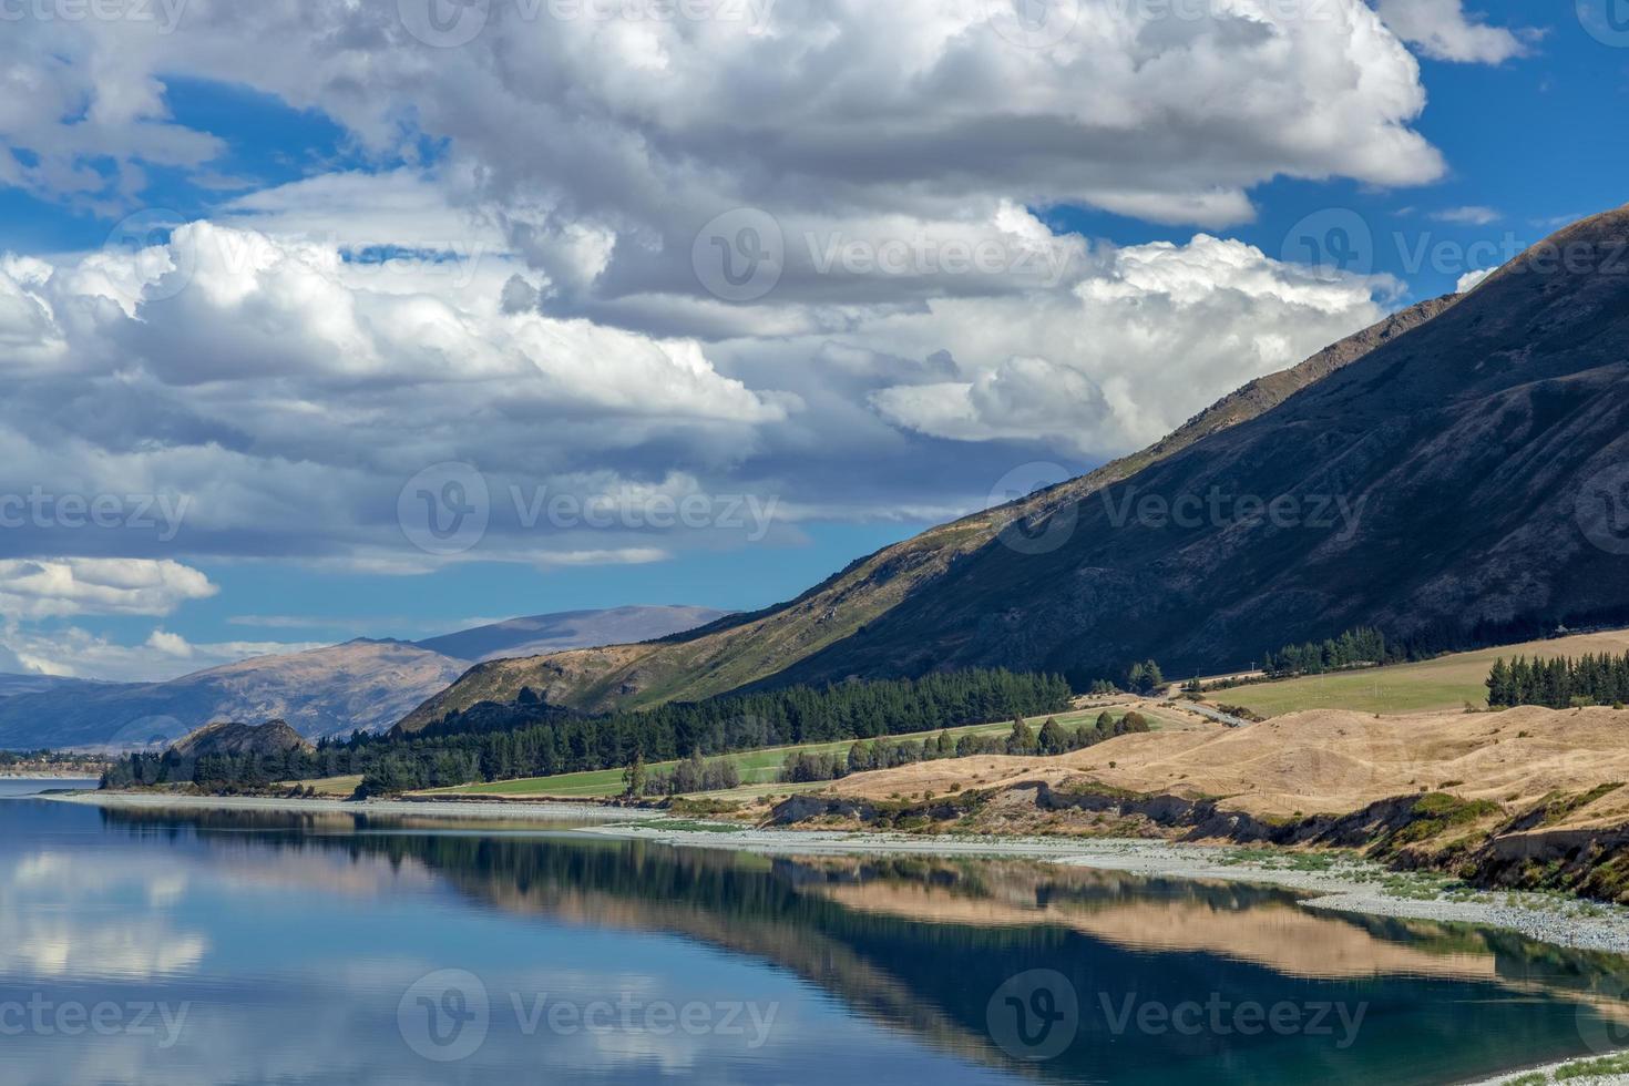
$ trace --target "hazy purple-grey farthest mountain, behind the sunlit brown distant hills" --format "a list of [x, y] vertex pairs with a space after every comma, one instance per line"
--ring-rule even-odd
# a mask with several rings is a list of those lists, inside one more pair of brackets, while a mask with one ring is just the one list
[[723, 614], [709, 607], [567, 611], [495, 622], [446, 637], [432, 637], [427, 642], [417, 642], [417, 645], [432, 653], [469, 661], [542, 656], [585, 645], [621, 645], [668, 637], [717, 622]]

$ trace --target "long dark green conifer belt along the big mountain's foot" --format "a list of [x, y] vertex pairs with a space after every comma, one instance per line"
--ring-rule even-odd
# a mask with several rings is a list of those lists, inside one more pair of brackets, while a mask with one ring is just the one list
[[[1013, 715], [1069, 708], [1060, 676], [1005, 669], [932, 674], [922, 679], [790, 687], [764, 694], [671, 703], [603, 716], [564, 715], [520, 705], [502, 729], [458, 718], [433, 734], [365, 734], [323, 741], [314, 751], [207, 755], [135, 754], [117, 760], [104, 786], [191, 782], [205, 791], [252, 791], [277, 782], [360, 775], [363, 795], [393, 795], [474, 782], [554, 777], [619, 769], [635, 757], [673, 762], [800, 742], [873, 739], [977, 725]], [[482, 720], [472, 713], [472, 720]]]

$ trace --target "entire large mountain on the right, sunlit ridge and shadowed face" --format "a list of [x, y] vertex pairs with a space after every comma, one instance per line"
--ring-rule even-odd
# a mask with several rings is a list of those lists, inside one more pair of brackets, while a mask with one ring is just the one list
[[[1215, 497], [1215, 500], [1212, 500]], [[1629, 619], [1629, 208], [1254, 381], [1165, 441], [652, 645], [474, 668], [582, 710], [935, 669], [1077, 684], [1377, 625], [1461, 646]]]

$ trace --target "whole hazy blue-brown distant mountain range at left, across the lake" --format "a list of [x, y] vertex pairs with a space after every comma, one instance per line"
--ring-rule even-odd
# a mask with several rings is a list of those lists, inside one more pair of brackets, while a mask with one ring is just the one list
[[261, 656], [168, 682], [0, 676], [0, 749], [165, 746], [220, 721], [283, 720], [313, 739], [383, 729], [477, 661], [660, 638], [722, 615], [705, 607], [573, 611], [419, 643], [355, 640]]

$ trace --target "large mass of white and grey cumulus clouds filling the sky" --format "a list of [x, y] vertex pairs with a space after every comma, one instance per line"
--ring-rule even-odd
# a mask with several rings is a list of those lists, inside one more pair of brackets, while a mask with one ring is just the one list
[[[971, 2], [779, 0], [735, 21], [494, 0], [438, 47], [417, 3], [191, 0], [0, 39], [18, 90], [0, 186], [132, 213], [106, 249], [0, 259], [0, 498], [124, 510], [8, 526], [0, 612], [197, 598], [184, 578], [86, 588], [73, 563], [656, 562], [797, 541], [800, 519], [938, 519], [1038, 453], [1088, 467], [1377, 319], [1385, 285], [1210, 234], [1057, 236], [1047, 208], [1218, 231], [1274, 177], [1434, 181], [1404, 41], [1486, 57], [1495, 33], [1453, 2], [1308, 20], [1082, 0], [1038, 47]], [[323, 111], [347, 166], [223, 177], [226, 145], [171, 107], [178, 80]], [[143, 208], [153, 171], [213, 210]], [[430, 492], [448, 531], [479, 506], [468, 549], [406, 523], [437, 466], [479, 482], [476, 505], [461, 475]], [[544, 495], [617, 515], [539, 515]], [[774, 518], [648, 516], [686, 498]], [[5, 651], [134, 669], [230, 648], [54, 637]]]

